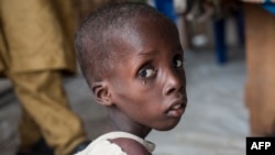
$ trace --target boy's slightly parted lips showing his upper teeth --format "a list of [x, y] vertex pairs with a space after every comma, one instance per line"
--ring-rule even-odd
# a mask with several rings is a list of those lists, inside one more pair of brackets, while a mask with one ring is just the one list
[[173, 101], [165, 113], [173, 118], [179, 118], [183, 115], [185, 108], [186, 108], [186, 100], [179, 99]]

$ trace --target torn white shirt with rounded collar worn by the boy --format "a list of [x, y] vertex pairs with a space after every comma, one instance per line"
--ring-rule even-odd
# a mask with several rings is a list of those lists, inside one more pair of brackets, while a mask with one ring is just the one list
[[136, 142], [141, 143], [150, 153], [152, 153], [155, 148], [153, 143], [144, 141], [136, 135], [127, 132], [110, 132], [92, 141], [84, 151], [77, 153], [76, 155], [127, 155], [127, 153], [124, 153], [119, 145], [108, 141], [119, 137], [135, 140]]

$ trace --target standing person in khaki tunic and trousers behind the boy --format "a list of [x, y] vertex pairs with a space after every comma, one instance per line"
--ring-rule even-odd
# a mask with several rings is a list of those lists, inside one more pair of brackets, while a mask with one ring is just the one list
[[22, 107], [16, 155], [68, 155], [88, 142], [63, 76], [76, 74], [70, 0], [0, 0], [0, 71]]

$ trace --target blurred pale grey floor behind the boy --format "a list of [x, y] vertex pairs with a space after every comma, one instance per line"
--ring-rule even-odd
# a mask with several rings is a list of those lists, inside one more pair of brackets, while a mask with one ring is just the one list
[[[155, 155], [245, 155], [249, 114], [244, 106], [245, 55], [230, 48], [226, 65], [216, 63], [212, 51], [185, 54], [188, 107], [172, 131], [153, 131]], [[106, 124], [106, 111], [95, 103], [81, 74], [65, 79], [70, 106], [85, 122], [90, 139]], [[10, 81], [0, 79], [0, 154], [13, 155], [18, 144], [19, 102]]]

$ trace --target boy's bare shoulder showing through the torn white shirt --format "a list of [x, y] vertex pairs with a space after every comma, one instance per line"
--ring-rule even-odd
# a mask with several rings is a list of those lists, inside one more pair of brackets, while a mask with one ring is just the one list
[[152, 155], [141, 143], [127, 137], [108, 140], [119, 145], [128, 155]]

